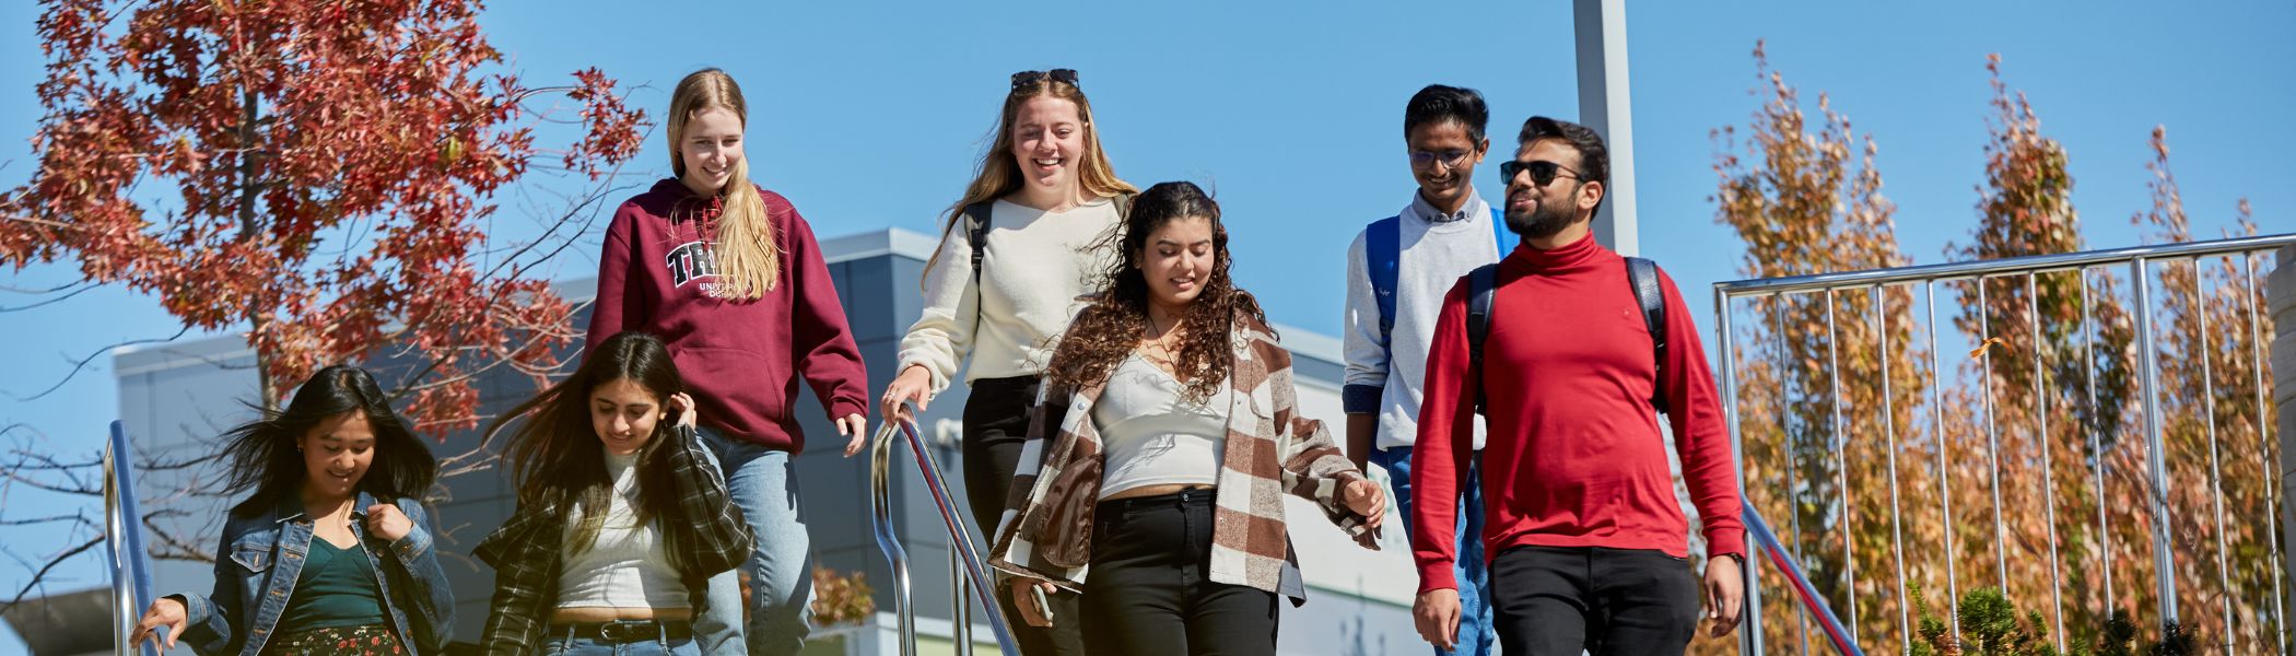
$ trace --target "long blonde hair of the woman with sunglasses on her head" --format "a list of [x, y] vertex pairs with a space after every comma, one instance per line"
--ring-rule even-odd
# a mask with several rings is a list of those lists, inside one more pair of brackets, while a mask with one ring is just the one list
[[[1116, 177], [1116, 167], [1109, 165], [1109, 151], [1100, 147], [1100, 128], [1093, 122], [1093, 101], [1084, 99], [1084, 89], [1075, 83], [1054, 80], [1052, 76], [1040, 76], [1035, 83], [1013, 87], [1006, 94], [1003, 112], [996, 115], [996, 140], [990, 145], [987, 154], [980, 156], [980, 170], [974, 172], [974, 183], [964, 188], [964, 197], [948, 206], [941, 220], [941, 239], [946, 241], [957, 222], [964, 220], [964, 206], [996, 200], [1008, 193], [1019, 190], [1019, 161], [1013, 158], [1013, 122], [1019, 117], [1019, 108], [1038, 96], [1054, 96], [1077, 103], [1077, 119], [1084, 122], [1084, 161], [1077, 167], [1077, 183], [1084, 186], [1088, 197], [1116, 197], [1125, 193], [1139, 193], [1137, 186]], [[934, 250], [932, 259], [925, 261], [930, 273], [939, 264], [941, 252]]]

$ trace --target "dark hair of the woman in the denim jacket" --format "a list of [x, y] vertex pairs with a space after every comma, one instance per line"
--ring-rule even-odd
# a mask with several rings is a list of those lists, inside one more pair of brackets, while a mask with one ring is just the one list
[[259, 420], [223, 434], [223, 459], [232, 463], [223, 482], [225, 493], [255, 491], [232, 507], [232, 514], [255, 516], [278, 507], [287, 495], [298, 495], [310, 473], [296, 443], [342, 413], [360, 413], [374, 431], [374, 461], [358, 479], [358, 491], [381, 500], [420, 500], [439, 479], [439, 459], [416, 438], [406, 420], [390, 411], [390, 397], [365, 369], [349, 365], [319, 369], [294, 390], [287, 408], [257, 408], [257, 413]]

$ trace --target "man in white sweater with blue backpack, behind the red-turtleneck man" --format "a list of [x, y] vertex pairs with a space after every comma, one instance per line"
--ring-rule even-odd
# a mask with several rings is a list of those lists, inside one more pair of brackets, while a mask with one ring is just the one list
[[[1419, 190], [1401, 213], [1371, 222], [1348, 245], [1348, 312], [1341, 319], [1348, 459], [1357, 468], [1375, 463], [1387, 470], [1405, 530], [1412, 525], [1410, 461], [1419, 399], [1442, 298], [1460, 275], [1499, 261], [1513, 245], [1513, 234], [1472, 183], [1474, 167], [1490, 151], [1483, 138], [1488, 122], [1490, 108], [1474, 89], [1419, 89], [1403, 110], [1403, 145]], [[1474, 447], [1483, 447], [1483, 427], [1476, 427]], [[1495, 638], [1490, 594], [1483, 589], [1483, 498], [1479, 486], [1463, 489], [1460, 635], [1456, 649], [1437, 654], [1486, 656]]]

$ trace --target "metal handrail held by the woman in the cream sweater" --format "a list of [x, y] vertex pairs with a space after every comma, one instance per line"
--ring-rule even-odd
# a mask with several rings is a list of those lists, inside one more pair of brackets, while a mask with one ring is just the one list
[[[932, 450], [925, 447], [923, 438], [916, 436], [914, 422], [886, 422], [877, 429], [877, 440], [870, 447], [870, 511], [875, 511], [877, 548], [893, 567], [893, 612], [900, 615], [900, 654], [916, 656], [916, 606], [909, 603], [909, 553], [900, 546], [900, 534], [893, 532], [893, 436], [905, 436], [909, 452], [916, 454], [916, 473], [925, 479], [925, 491], [932, 493], [932, 505], [941, 511], [941, 523], [948, 528], [948, 546], [955, 550], [964, 571], [951, 571], [951, 576], [962, 576], [971, 580], [974, 601], [980, 603], [983, 612], [990, 612], [990, 628], [996, 631], [996, 645], [1003, 647], [1006, 656], [1019, 656], [1013, 642], [1013, 633], [1003, 624], [1003, 615], [996, 606], [996, 580], [987, 576], [980, 553], [974, 550], [971, 532], [964, 530], [964, 518], [957, 511], [955, 498], [948, 495], [948, 484], [941, 479], [941, 466], [932, 459]], [[964, 585], [955, 580], [955, 585]], [[957, 628], [964, 624], [962, 603], [951, 612], [951, 635], [964, 638], [967, 631]], [[957, 645], [957, 654], [971, 654], [971, 645]]]

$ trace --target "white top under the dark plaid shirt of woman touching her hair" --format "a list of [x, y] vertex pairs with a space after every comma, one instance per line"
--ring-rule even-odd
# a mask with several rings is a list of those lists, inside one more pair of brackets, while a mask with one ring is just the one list
[[574, 528], [581, 509], [567, 514], [565, 560], [558, 569], [558, 608], [693, 608], [687, 583], [670, 567], [661, 546], [659, 518], [638, 525], [629, 500], [638, 498], [638, 456], [606, 454], [613, 477], [606, 525], [590, 548], [574, 553]]

